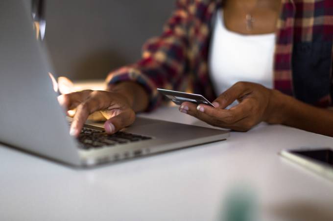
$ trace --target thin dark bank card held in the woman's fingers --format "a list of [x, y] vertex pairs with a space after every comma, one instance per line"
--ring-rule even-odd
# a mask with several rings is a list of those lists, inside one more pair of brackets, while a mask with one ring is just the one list
[[199, 94], [190, 94], [190, 93], [179, 92], [179, 91], [170, 91], [170, 90], [165, 90], [165, 89], [161, 89], [161, 88], [157, 88], [157, 90], [161, 94], [165, 95], [168, 99], [172, 100], [177, 105], [181, 105], [185, 101], [190, 101], [197, 105], [206, 104], [206, 105], [214, 107], [214, 105], [211, 102], [209, 102], [209, 100], [207, 100], [204, 96], [199, 95]]

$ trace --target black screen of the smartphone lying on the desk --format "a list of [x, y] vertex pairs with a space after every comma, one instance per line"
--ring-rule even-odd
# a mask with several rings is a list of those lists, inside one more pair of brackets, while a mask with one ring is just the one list
[[319, 150], [292, 150], [290, 152], [299, 156], [304, 156], [316, 161], [329, 164], [333, 167], [333, 150], [329, 148]]

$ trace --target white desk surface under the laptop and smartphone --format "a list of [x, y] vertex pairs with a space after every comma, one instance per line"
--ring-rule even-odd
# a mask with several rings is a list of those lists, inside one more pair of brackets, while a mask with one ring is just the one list
[[[176, 108], [149, 117], [196, 121]], [[217, 221], [246, 186], [263, 221], [332, 221], [333, 182], [277, 155], [301, 146], [333, 139], [262, 124], [227, 141], [89, 170], [1, 146], [0, 220]]]

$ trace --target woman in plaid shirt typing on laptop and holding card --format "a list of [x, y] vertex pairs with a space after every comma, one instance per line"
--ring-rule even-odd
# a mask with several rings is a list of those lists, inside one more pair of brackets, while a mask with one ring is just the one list
[[76, 108], [73, 136], [99, 110], [108, 133], [132, 124], [135, 112], [158, 106], [157, 87], [214, 100], [216, 108], [180, 107], [214, 126], [247, 131], [265, 121], [333, 136], [332, 41], [331, 0], [178, 0], [164, 33], [142, 60], [109, 74], [107, 91], [59, 101]]

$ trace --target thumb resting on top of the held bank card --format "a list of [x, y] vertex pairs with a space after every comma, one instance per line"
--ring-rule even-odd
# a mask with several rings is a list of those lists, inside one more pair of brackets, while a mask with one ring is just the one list
[[235, 100], [251, 92], [247, 82], [237, 82], [213, 101], [216, 108], [224, 109]]

